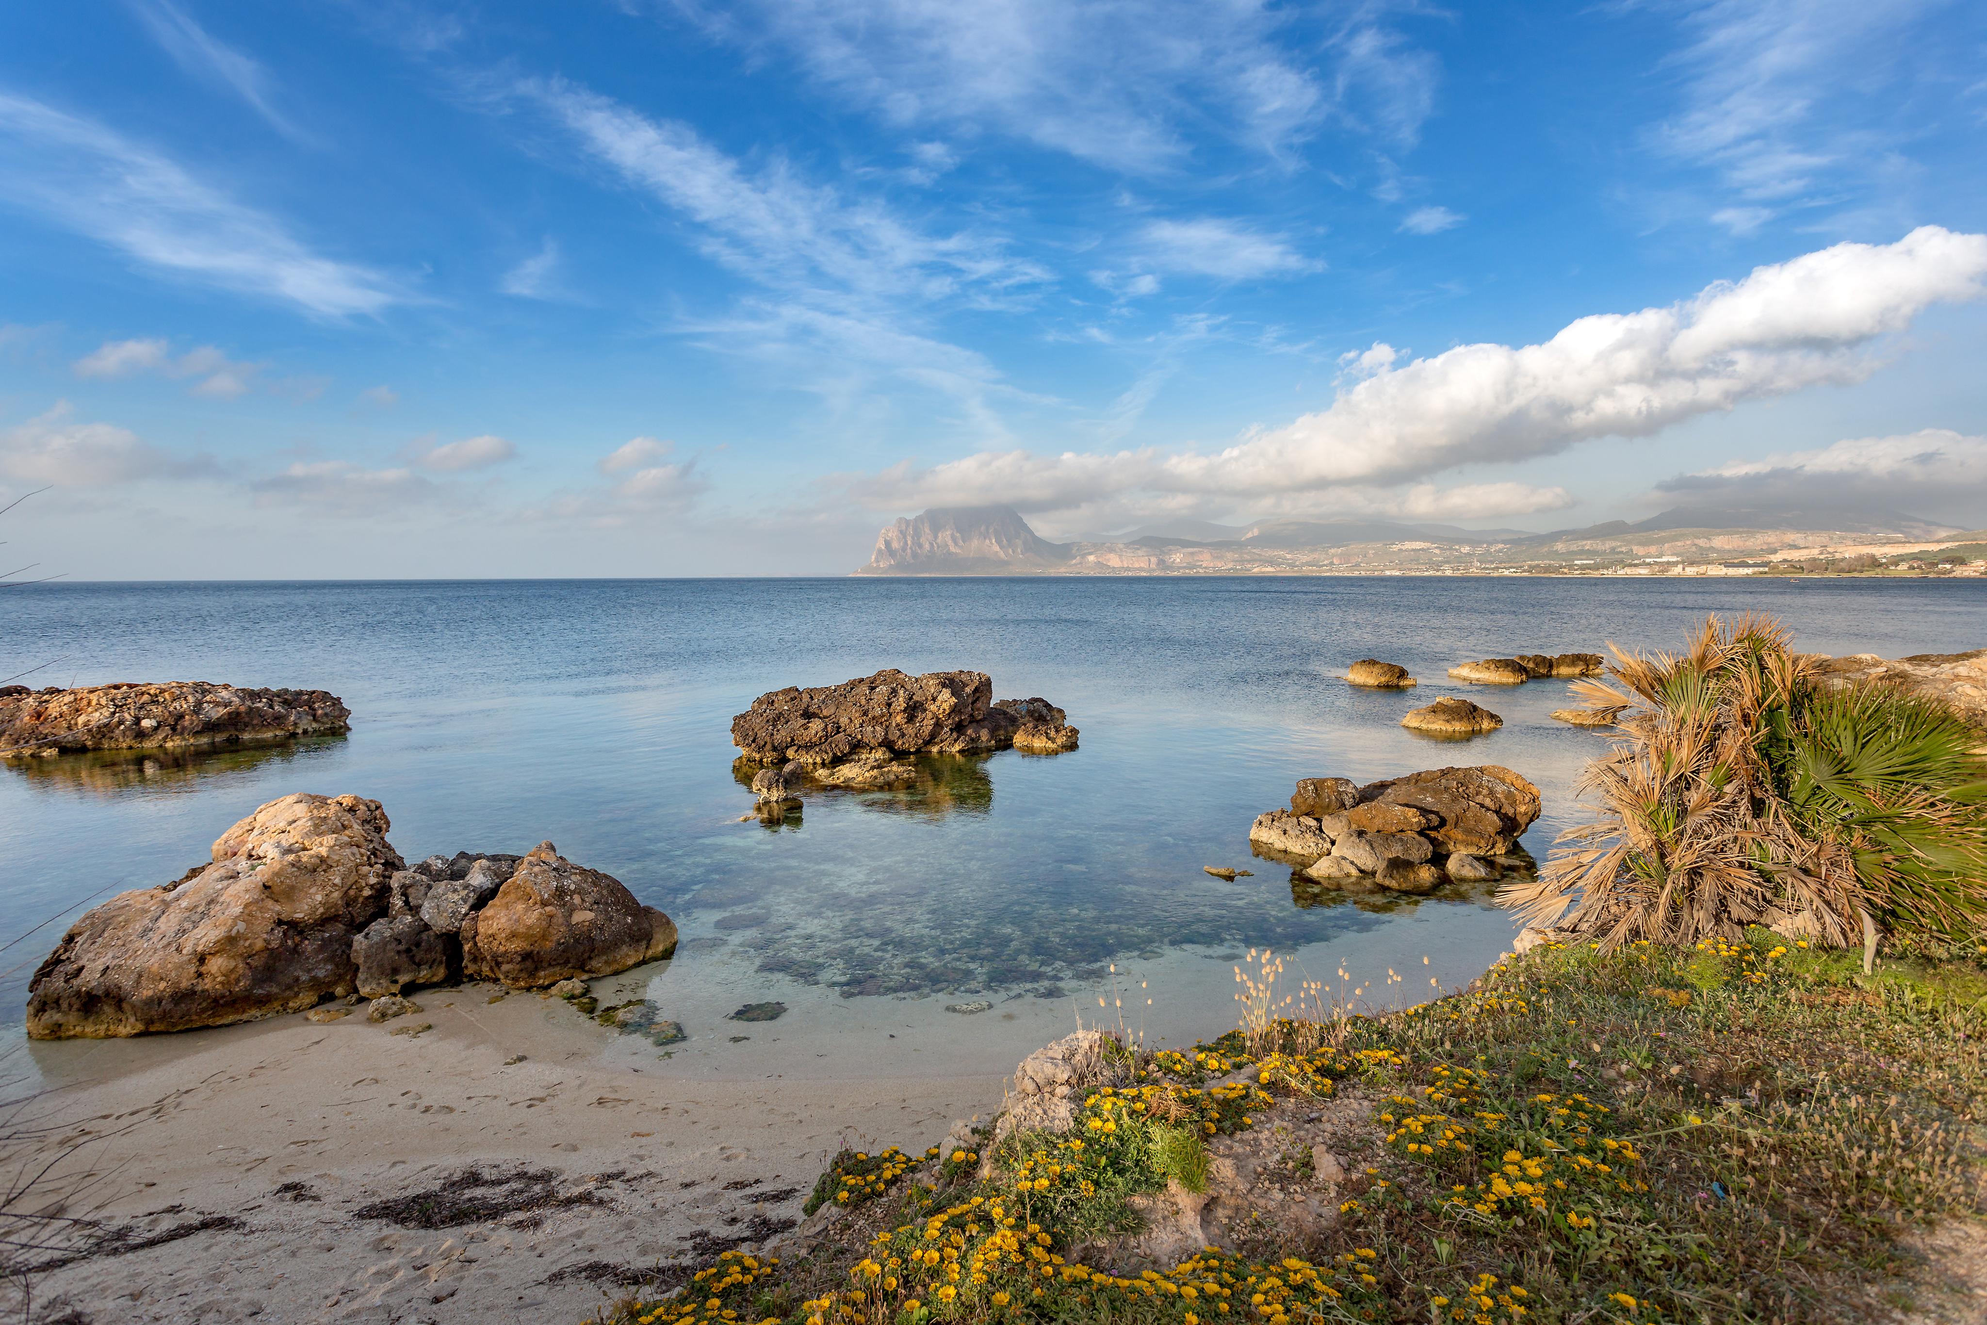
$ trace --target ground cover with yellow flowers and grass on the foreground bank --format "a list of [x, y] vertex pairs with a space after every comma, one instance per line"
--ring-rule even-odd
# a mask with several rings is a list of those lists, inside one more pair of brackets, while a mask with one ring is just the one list
[[[1403, 1013], [1121, 1045], [1067, 1132], [988, 1136], [988, 1162], [844, 1152], [819, 1244], [727, 1251], [608, 1319], [1874, 1319], [1908, 1305], [1921, 1232], [1983, 1212], [1983, 957], [1906, 948], [1864, 975], [1764, 930], [1548, 946]], [[1208, 1182], [1210, 1144], [1319, 1101], [1361, 1118], [1335, 1140], [1335, 1222], [1123, 1263], [1150, 1198]]]

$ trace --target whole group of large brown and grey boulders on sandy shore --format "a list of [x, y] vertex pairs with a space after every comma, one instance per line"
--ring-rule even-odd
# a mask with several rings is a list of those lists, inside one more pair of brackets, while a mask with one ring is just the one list
[[270, 801], [211, 862], [85, 912], [34, 973], [28, 1035], [185, 1031], [463, 977], [535, 989], [676, 950], [668, 916], [550, 842], [409, 870], [389, 826], [362, 797]]

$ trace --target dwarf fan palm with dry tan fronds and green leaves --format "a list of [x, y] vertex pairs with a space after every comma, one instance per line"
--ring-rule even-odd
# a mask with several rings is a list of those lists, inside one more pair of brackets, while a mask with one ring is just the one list
[[1987, 765], [1937, 703], [1822, 689], [1770, 618], [1709, 618], [1683, 654], [1615, 650], [1596, 707], [1623, 737], [1580, 793], [1600, 816], [1502, 900], [1532, 924], [1693, 944], [1749, 924], [1826, 944], [1874, 924], [1987, 922]]

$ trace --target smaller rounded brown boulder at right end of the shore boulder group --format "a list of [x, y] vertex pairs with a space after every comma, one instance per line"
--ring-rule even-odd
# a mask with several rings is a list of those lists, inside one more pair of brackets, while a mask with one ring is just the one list
[[612, 975], [676, 950], [676, 924], [618, 878], [538, 842], [481, 912], [463, 920], [463, 971], [536, 989]]

